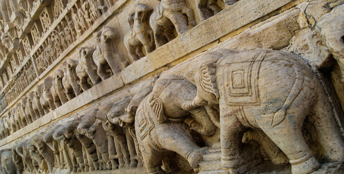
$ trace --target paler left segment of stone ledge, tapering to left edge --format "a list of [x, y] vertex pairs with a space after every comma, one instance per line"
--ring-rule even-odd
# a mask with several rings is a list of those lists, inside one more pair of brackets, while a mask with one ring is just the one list
[[124, 83], [122, 82], [120, 74], [115, 74], [114, 76], [111, 76], [110, 78], [93, 86], [93, 88], [84, 91], [83, 93], [76, 96], [67, 103], [63, 104], [62, 106], [56, 108], [48, 114], [45, 114], [43, 117], [33, 121], [30, 125], [25, 126], [22, 129], [19, 129], [18, 131], [9, 135], [8, 137], [0, 140], [0, 147], [25, 136], [25, 134], [29, 134], [30, 132], [39, 129], [46, 124], [52, 123], [56, 119], [65, 117], [73, 111], [81, 107], [84, 107], [85, 105], [95, 100], [98, 100], [106, 94], [109, 94], [119, 88], [122, 88], [123, 86]]

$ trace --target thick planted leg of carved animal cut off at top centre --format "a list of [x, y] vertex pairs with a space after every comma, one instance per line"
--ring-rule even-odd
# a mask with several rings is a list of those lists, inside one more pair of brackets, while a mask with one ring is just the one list
[[163, 12], [163, 15], [173, 23], [178, 35], [187, 31], [188, 21], [180, 11]]

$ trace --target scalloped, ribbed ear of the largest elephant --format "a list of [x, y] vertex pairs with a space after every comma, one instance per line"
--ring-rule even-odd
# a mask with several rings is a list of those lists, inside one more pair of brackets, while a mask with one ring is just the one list
[[[203, 63], [200, 66], [200, 84], [204, 91], [214, 94], [219, 98], [215, 78], [216, 62]], [[197, 80], [197, 79], [196, 79]]]

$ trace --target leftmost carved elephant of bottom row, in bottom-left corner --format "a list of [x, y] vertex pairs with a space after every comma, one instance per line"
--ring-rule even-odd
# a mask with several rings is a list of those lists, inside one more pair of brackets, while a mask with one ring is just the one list
[[1, 164], [4, 173], [8, 174], [21, 174], [21, 171], [15, 167], [15, 164], [12, 161], [12, 150], [4, 149], [0, 151]]

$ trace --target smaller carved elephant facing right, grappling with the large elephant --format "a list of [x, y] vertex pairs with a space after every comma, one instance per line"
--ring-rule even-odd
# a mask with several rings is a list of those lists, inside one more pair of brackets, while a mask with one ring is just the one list
[[148, 173], [165, 173], [161, 164], [169, 151], [180, 154], [193, 168], [201, 162], [207, 147], [196, 144], [184, 120], [190, 116], [196, 119], [195, 130], [207, 136], [214, 134], [216, 127], [204, 107], [190, 112], [182, 109], [195, 95], [195, 86], [182, 76], [168, 76], [157, 80], [138, 106], [135, 131]]

